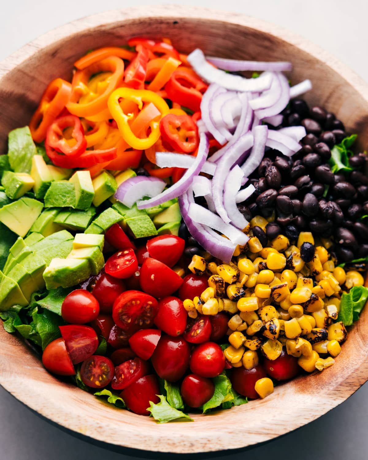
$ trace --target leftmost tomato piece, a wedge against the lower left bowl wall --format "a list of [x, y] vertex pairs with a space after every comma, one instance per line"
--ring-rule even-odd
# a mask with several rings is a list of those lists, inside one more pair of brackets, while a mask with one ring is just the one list
[[65, 341], [61, 337], [52, 340], [42, 353], [42, 362], [45, 368], [57, 375], [74, 375], [75, 370]]

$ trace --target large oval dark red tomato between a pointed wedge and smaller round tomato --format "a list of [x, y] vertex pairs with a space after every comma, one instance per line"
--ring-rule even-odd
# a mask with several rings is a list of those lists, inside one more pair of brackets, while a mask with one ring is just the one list
[[189, 366], [190, 345], [183, 337], [164, 335], [159, 340], [151, 361], [161, 379], [176, 382]]

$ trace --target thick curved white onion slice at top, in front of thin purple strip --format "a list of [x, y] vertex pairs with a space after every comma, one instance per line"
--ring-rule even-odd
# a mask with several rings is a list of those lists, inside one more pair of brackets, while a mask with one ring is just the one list
[[[200, 49], [196, 49], [188, 56], [188, 62], [203, 80], [233, 91], [260, 92], [271, 86], [270, 75], [260, 75], [258, 78], [243, 78], [240, 75], [227, 74], [223, 70], [216, 69], [206, 61], [206, 57]], [[207, 90], [208, 91], [208, 90]]]

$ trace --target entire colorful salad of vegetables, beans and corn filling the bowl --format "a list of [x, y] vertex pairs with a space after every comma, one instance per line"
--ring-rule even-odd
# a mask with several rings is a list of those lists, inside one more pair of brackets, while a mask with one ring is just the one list
[[167, 38], [74, 67], [0, 156], [5, 330], [159, 423], [334, 365], [368, 299], [367, 155], [311, 81]]

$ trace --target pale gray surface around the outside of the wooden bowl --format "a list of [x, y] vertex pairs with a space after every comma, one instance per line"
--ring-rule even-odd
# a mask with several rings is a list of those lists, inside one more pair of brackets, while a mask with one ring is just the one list
[[[79, 17], [105, 9], [125, 8], [129, 5], [155, 5], [158, 2], [159, 0], [136, 0], [133, 3], [119, 0], [13, 0], [6, 1], [5, 6], [4, 1], [0, 9], [0, 59], [38, 35]], [[368, 8], [365, 0], [172, 0], [162, 3], [195, 4], [238, 11], [277, 23], [334, 53], [362, 78], [368, 80]], [[104, 451], [69, 436], [31, 413], [2, 388], [0, 408], [1, 460], [131, 458]], [[367, 409], [368, 385], [364, 385], [348, 401], [319, 420], [247, 454], [232, 454], [231, 459], [239, 460], [249, 456], [253, 460], [267, 457], [273, 460], [310, 460], [311, 457], [317, 456], [323, 460], [366, 460]], [[144, 453], [142, 458], [145, 458]], [[230, 455], [223, 458], [230, 459]]]

